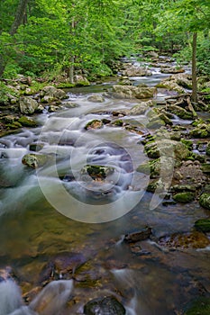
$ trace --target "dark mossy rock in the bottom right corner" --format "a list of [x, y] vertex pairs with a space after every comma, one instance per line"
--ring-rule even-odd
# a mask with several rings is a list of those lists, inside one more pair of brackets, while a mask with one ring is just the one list
[[210, 314], [210, 298], [200, 297], [192, 302], [191, 306], [184, 315], [209, 315]]

